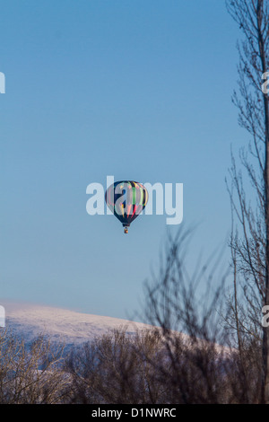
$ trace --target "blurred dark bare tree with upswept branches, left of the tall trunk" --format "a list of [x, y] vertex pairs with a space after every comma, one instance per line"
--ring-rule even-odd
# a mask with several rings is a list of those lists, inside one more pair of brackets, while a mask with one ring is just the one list
[[181, 228], [169, 237], [160, 271], [145, 285], [146, 321], [160, 327], [165, 350], [152, 362], [159, 382], [169, 384], [165, 402], [258, 403], [259, 341], [247, 331], [235, 348], [223, 320], [227, 273], [218, 255], [187, 271], [189, 234]]

